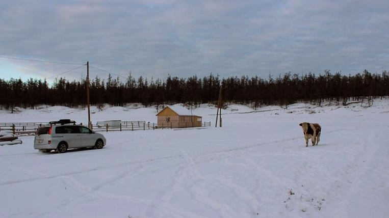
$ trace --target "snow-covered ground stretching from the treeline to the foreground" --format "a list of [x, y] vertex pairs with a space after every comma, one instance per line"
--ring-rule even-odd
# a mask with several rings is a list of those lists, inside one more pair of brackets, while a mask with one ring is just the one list
[[[157, 122], [155, 108], [91, 108], [92, 122]], [[388, 217], [389, 100], [193, 110], [211, 127], [102, 132], [107, 146], [40, 153], [0, 146], [0, 217]], [[87, 123], [62, 106], [0, 122]], [[305, 147], [301, 122], [322, 126]]]

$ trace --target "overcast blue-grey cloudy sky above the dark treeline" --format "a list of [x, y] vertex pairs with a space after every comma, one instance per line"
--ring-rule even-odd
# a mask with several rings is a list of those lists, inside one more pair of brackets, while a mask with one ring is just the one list
[[79, 80], [87, 61], [123, 81], [381, 73], [389, 1], [0, 1], [0, 78]]

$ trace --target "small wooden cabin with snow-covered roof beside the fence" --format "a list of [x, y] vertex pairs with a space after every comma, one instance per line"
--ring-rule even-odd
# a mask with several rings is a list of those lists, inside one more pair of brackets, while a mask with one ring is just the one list
[[201, 127], [202, 117], [179, 105], [166, 106], [157, 115], [158, 128]]

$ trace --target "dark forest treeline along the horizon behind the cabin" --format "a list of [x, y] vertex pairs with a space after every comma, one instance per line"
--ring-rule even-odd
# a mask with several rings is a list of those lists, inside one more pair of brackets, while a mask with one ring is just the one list
[[[138, 79], [131, 74], [123, 83], [119, 77], [108, 76], [107, 80], [95, 77], [89, 83], [90, 103], [102, 106], [106, 103], [122, 106], [127, 103], [142, 103], [145, 106], [174, 103], [215, 103], [222, 87], [224, 102], [262, 105], [288, 105], [297, 101], [321, 103], [323, 100], [347, 101], [371, 96], [389, 95], [389, 74], [372, 74], [365, 70], [356, 75], [331, 74], [329, 70], [316, 76], [313, 73], [298, 75], [286, 73], [264, 79], [219, 75], [199, 78], [171, 77], [165, 80]], [[68, 81], [58, 78], [49, 86], [46, 80], [30, 78], [0, 79], [0, 108], [30, 107], [37, 105], [63, 105], [69, 107], [87, 104], [87, 81]]]

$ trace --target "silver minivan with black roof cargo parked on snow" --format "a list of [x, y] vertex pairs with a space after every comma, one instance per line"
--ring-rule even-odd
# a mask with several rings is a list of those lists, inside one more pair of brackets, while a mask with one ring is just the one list
[[49, 123], [49, 126], [39, 127], [35, 133], [34, 148], [41, 152], [56, 150], [64, 153], [70, 148], [92, 147], [101, 149], [106, 145], [104, 135], [75, 121], [62, 119]]

